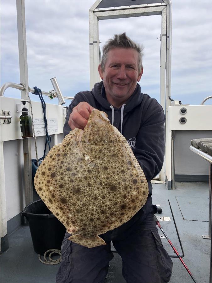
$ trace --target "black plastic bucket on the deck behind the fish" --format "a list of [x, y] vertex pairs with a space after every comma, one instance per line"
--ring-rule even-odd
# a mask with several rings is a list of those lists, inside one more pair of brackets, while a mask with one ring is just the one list
[[22, 215], [26, 216], [29, 222], [32, 243], [36, 253], [44, 255], [47, 250], [61, 249], [66, 228], [41, 199], [24, 208]]

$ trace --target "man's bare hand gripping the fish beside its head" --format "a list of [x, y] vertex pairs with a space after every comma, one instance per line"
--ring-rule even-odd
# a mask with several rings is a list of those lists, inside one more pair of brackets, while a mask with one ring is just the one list
[[90, 106], [87, 102], [80, 102], [77, 106], [75, 106], [68, 120], [68, 125], [71, 130], [74, 130], [75, 128], [84, 130], [93, 109], [95, 108]]

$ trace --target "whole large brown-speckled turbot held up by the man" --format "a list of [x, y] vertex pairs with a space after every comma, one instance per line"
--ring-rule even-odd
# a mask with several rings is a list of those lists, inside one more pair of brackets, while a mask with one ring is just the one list
[[72, 235], [91, 248], [98, 235], [130, 220], [148, 197], [144, 172], [127, 140], [94, 109], [84, 130], [74, 129], [37, 169], [35, 190]]

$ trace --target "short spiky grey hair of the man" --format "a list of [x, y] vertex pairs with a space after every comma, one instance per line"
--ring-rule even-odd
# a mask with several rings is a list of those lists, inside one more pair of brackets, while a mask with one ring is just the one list
[[105, 63], [107, 59], [107, 53], [114, 48], [132, 48], [138, 52], [138, 68], [139, 73], [141, 72], [141, 69], [143, 68], [142, 64], [142, 57], [143, 57], [143, 45], [136, 44], [133, 42], [127, 35], [126, 32], [122, 34], [115, 34], [114, 38], [109, 39], [106, 44], [103, 46], [103, 54], [101, 59], [101, 69], [102, 71], [105, 70]]

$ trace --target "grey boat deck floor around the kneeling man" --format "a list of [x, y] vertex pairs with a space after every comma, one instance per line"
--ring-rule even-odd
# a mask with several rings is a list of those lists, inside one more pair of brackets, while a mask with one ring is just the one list
[[[171, 215], [179, 231], [185, 256], [183, 260], [192, 272], [196, 282], [209, 282], [210, 240], [204, 240], [202, 235], [208, 235], [208, 198], [209, 186], [204, 183], [176, 183], [176, 190], [167, 190], [163, 184], [153, 184], [153, 204], [160, 204], [162, 214], [170, 216], [171, 222], [160, 221], [167, 236], [177, 251], [181, 254], [180, 244]], [[186, 220], [190, 219], [190, 220]], [[159, 235], [162, 232], [159, 230]], [[166, 239], [162, 239], [169, 254], [173, 254]], [[58, 265], [42, 264], [33, 250], [30, 230], [28, 226], [21, 226], [9, 236], [10, 248], [1, 255], [1, 282], [2, 283], [52, 283], [55, 282]], [[182, 263], [172, 258], [173, 272], [171, 283], [193, 282]], [[126, 282], [122, 277], [122, 261], [115, 253], [110, 262], [108, 283]], [[142, 282], [142, 280], [141, 280]], [[154, 283], [154, 282], [153, 282]], [[155, 282], [156, 283], [156, 282]]]

